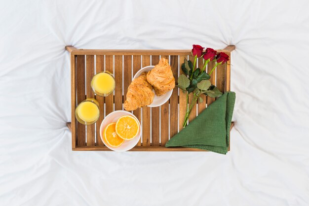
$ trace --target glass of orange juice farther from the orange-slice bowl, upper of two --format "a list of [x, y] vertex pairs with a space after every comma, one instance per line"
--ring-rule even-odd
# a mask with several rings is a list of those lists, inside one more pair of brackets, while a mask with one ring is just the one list
[[91, 79], [92, 90], [100, 96], [106, 97], [115, 90], [115, 78], [109, 71], [102, 71], [94, 75]]

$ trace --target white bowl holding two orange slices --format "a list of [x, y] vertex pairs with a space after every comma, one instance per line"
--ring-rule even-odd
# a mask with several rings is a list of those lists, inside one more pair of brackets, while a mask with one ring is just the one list
[[100, 137], [103, 141], [103, 143], [108, 147], [110, 148], [111, 150], [114, 150], [114, 151], [118, 151], [118, 152], [123, 152], [123, 151], [128, 151], [130, 149], [132, 149], [136, 144], [137, 142], [140, 140], [141, 138], [141, 123], [138, 121], [138, 124], [140, 126], [140, 131], [138, 132], [137, 136], [134, 137], [133, 139], [131, 140], [124, 140], [124, 142], [119, 146], [119, 147], [112, 147], [110, 146], [105, 140], [104, 138], [102, 137], [102, 134], [103, 134], [103, 131], [105, 129], [105, 127], [110, 124], [110, 123], [113, 123], [113, 122], [116, 122], [120, 117], [122, 116], [125, 116], [125, 115], [131, 115], [132, 117], [136, 118], [136, 116], [128, 111], [123, 111], [123, 110], [116, 110], [116, 111], [113, 111], [111, 112], [110, 114], [108, 114], [102, 121], [101, 123], [101, 127], [100, 127]]

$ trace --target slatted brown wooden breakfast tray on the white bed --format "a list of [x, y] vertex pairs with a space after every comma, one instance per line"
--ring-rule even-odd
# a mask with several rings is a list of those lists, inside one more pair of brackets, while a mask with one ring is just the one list
[[[231, 59], [231, 52], [235, 46], [228, 46], [223, 50]], [[191, 50], [97, 50], [77, 49], [66, 46], [71, 53], [71, 103], [72, 103], [72, 149], [111, 151], [100, 138], [100, 125], [106, 115], [114, 110], [123, 109], [127, 88], [134, 74], [141, 68], [156, 65], [160, 58], [169, 59], [169, 63], [177, 82], [181, 70], [181, 64], [186, 57], [191, 61]], [[202, 60], [198, 61], [202, 64]], [[208, 68], [213, 68], [214, 63], [208, 63]], [[200, 67], [200, 66], [199, 66]], [[116, 79], [115, 94], [106, 98], [94, 94], [90, 87], [92, 76], [96, 72], [109, 70], [114, 73]], [[217, 71], [211, 74], [210, 81], [221, 92], [230, 91], [230, 62], [226, 66], [218, 66]], [[204, 102], [197, 103], [191, 112], [189, 121], [200, 113], [207, 105], [215, 101], [214, 98], [206, 98]], [[77, 122], [75, 108], [78, 103], [86, 98], [95, 98], [100, 104], [100, 118], [97, 123], [85, 126]], [[190, 102], [193, 96], [190, 96]], [[186, 95], [175, 87], [169, 102], [160, 107], [143, 107], [133, 111], [142, 125], [142, 137], [140, 142], [130, 151], [203, 151], [185, 147], [164, 147], [166, 141], [182, 130], [182, 123], [186, 113]], [[233, 125], [233, 124], [232, 124]], [[232, 126], [231, 126], [232, 129]]]

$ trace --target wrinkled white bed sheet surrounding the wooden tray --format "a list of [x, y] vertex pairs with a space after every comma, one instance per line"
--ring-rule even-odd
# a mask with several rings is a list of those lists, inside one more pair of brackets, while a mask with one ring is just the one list
[[[309, 1], [1, 0], [1, 206], [308, 206]], [[66, 45], [236, 45], [231, 151], [73, 152]]]

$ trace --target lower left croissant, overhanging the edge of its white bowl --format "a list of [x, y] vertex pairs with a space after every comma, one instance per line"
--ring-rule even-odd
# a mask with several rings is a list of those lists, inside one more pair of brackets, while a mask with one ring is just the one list
[[126, 101], [123, 103], [125, 110], [131, 111], [153, 103], [153, 86], [147, 82], [146, 74], [147, 72], [142, 73], [129, 85]]

